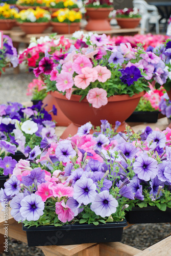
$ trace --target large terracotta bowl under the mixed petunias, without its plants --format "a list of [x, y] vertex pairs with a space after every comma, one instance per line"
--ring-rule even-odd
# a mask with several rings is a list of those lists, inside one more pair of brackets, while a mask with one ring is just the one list
[[119, 131], [124, 131], [126, 126], [125, 120], [133, 113], [144, 92], [135, 94], [132, 97], [129, 95], [111, 96], [108, 98], [108, 104], [99, 109], [90, 107], [86, 98], [80, 102], [80, 95], [72, 95], [70, 100], [68, 100], [65, 95], [57, 91], [50, 92], [50, 94], [56, 98], [59, 108], [72, 121], [61, 136], [64, 139], [69, 134], [71, 136], [75, 135], [78, 127], [89, 121], [94, 126], [100, 126], [100, 120], [104, 119], [108, 120], [113, 126], [116, 121], [120, 121]]

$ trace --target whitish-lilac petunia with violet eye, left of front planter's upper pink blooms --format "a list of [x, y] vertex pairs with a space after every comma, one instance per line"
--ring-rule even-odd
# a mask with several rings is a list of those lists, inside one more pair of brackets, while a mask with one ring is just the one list
[[56, 147], [55, 154], [59, 161], [67, 163], [70, 161], [69, 157], [76, 156], [76, 151], [72, 148], [71, 142], [65, 140], [59, 142], [58, 146]]

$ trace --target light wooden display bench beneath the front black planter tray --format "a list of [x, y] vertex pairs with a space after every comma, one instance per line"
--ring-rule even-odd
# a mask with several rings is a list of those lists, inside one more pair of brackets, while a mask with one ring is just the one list
[[[128, 223], [128, 227], [131, 224]], [[8, 223], [4, 221], [4, 211], [0, 206], [0, 253], [4, 251], [4, 234], [5, 227], [8, 227], [8, 236], [27, 243], [26, 232], [22, 230], [21, 223], [17, 223], [10, 215], [8, 209]], [[170, 255], [171, 236], [161, 240], [160, 242], [142, 250], [136, 249], [120, 242], [113, 243], [91, 243], [79, 245], [52, 245], [52, 246], [38, 246], [45, 256], [156, 256], [156, 255]]]

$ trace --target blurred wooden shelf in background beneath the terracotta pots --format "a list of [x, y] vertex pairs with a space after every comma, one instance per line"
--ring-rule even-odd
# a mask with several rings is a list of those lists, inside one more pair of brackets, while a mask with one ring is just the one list
[[[107, 35], [121, 35], [121, 34], [138, 34], [140, 33], [140, 28], [135, 29], [120, 29], [117, 26], [111, 26], [111, 30], [103, 30], [103, 31], [88, 31], [88, 32], [95, 32], [97, 34], [107, 34]], [[86, 30], [83, 30], [87, 32]], [[47, 28], [42, 34], [26, 34], [25, 32], [21, 31], [19, 27], [14, 27], [11, 30], [4, 30], [5, 35], [9, 35], [13, 42], [23, 42], [25, 44], [30, 43], [31, 37], [40, 38], [40, 36], [50, 35], [52, 34], [52, 28]], [[62, 35], [57, 35], [57, 37], [61, 37]], [[70, 37], [71, 34], [65, 34], [65, 37]]]

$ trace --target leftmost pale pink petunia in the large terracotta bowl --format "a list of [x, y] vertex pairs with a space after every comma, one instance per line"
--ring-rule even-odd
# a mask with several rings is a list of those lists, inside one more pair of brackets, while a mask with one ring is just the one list
[[63, 93], [65, 92], [66, 89], [72, 88], [72, 86], [74, 86], [72, 74], [67, 72], [63, 72], [59, 74], [56, 81], [57, 81], [56, 87], [58, 91], [62, 91]]

